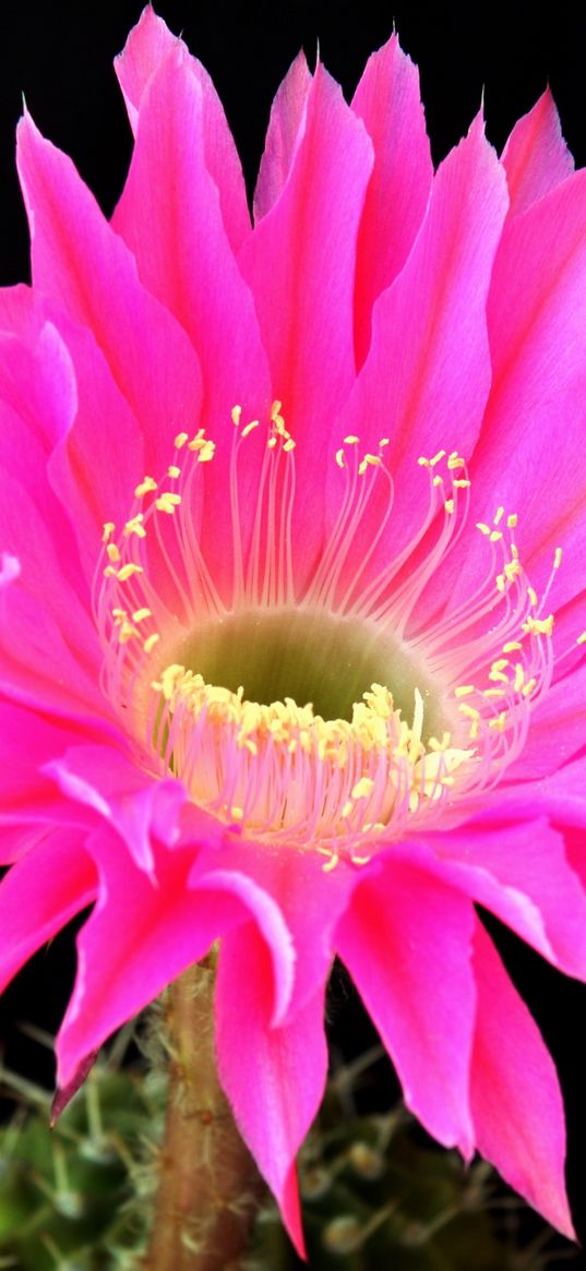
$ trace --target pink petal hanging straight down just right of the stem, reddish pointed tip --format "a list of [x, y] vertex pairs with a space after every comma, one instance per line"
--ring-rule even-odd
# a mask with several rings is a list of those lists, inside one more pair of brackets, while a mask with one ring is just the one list
[[327, 1074], [323, 986], [291, 1023], [271, 1027], [272, 974], [252, 924], [222, 942], [216, 1045], [222, 1085], [243, 1139], [304, 1256], [295, 1155], [322, 1101]]

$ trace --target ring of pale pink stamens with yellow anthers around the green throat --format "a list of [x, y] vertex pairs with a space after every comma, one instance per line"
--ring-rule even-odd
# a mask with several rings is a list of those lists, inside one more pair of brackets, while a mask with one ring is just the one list
[[[118, 533], [112, 522], [104, 526], [95, 585], [103, 689], [125, 710], [151, 765], [181, 778], [189, 797], [226, 825], [313, 844], [327, 869], [341, 858], [360, 864], [378, 840], [433, 824], [446, 807], [493, 785], [522, 749], [531, 708], [550, 683], [547, 601], [562, 553], [557, 549], [539, 600], [519, 558], [516, 516], [498, 507], [492, 525], [477, 525], [489, 549], [486, 577], [449, 616], [417, 629], [417, 604], [467, 526], [465, 461], [444, 450], [419, 459], [428, 477], [421, 525], [400, 554], [362, 583], [393, 511], [394, 487], [384, 463], [388, 438], [376, 454], [361, 454], [358, 437], [348, 436], [334, 455], [344, 482], [339, 512], [310, 583], [296, 595], [295, 442], [281, 403], [272, 405], [264, 444], [259, 421], [243, 426], [239, 407], [231, 418], [230, 595], [221, 595], [211, 577], [194, 515], [205, 488], [200, 465], [214, 461], [215, 444], [203, 428], [192, 438], [181, 432], [165, 478], [144, 478]], [[244, 543], [239, 464], [254, 432], [263, 454]], [[365, 549], [361, 525], [381, 479], [379, 531], [374, 538], [370, 531]], [[352, 558], [361, 567], [350, 571], [348, 583], [344, 567]], [[323, 718], [290, 697], [248, 700], [245, 686], [234, 691], [206, 683], [197, 665], [177, 660], [193, 627], [205, 633], [208, 624], [212, 632], [219, 619], [248, 611], [261, 622], [268, 611], [286, 619], [294, 609], [314, 629], [322, 614], [329, 623], [339, 619], [341, 629], [364, 623], [383, 642], [388, 637], [389, 679], [393, 651], [413, 667], [412, 714], [397, 705], [392, 683], [365, 685], [351, 718]], [[430, 719], [439, 735], [431, 733]]]

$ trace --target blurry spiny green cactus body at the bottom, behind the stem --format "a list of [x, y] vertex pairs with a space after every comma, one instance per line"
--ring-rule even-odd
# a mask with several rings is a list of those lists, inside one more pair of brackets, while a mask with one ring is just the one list
[[[552, 1263], [548, 1229], [524, 1248], [520, 1224], [503, 1221], [524, 1210], [488, 1166], [465, 1171], [400, 1108], [342, 1116], [341, 1080], [347, 1092], [355, 1078], [346, 1068], [330, 1083], [301, 1154], [313, 1271], [538, 1271]], [[145, 1075], [111, 1055], [52, 1131], [44, 1091], [6, 1073], [4, 1084], [18, 1106], [0, 1129], [0, 1271], [137, 1271], [156, 1185], [160, 1069]], [[301, 1266], [267, 1204], [247, 1271]]]

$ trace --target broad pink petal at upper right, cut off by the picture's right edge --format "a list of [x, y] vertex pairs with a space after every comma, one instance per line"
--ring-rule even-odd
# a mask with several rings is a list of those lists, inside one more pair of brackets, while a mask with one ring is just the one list
[[[552, 594], [559, 608], [586, 582], [586, 473], [576, 461], [586, 423], [586, 173], [507, 222], [488, 325], [493, 388], [470, 469], [474, 521], [492, 520], [501, 503], [519, 513], [519, 550], [538, 592], [555, 547], [566, 548]], [[480, 552], [473, 541], [461, 576], [482, 568]], [[454, 602], [458, 592], [461, 585]]]

